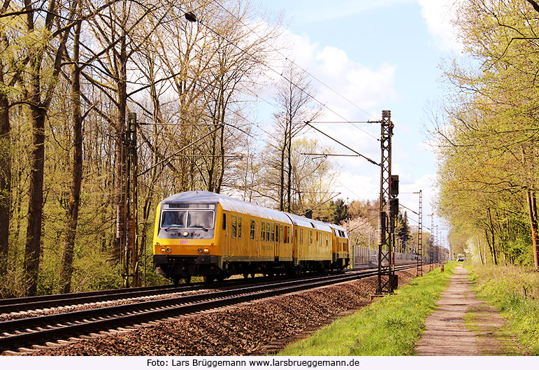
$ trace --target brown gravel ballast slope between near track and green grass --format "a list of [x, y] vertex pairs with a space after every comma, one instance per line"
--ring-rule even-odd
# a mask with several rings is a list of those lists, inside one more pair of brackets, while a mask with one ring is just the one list
[[[405, 285], [415, 278], [415, 269], [397, 274], [399, 285]], [[271, 297], [29, 355], [259, 355], [266, 343], [294, 341], [297, 334], [327, 324], [338, 313], [365, 306], [376, 284], [373, 277]]]

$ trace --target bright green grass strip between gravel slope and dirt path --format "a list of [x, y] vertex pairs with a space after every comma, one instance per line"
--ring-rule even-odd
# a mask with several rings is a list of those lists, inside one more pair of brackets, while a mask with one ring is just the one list
[[396, 294], [384, 297], [353, 315], [336, 320], [306, 339], [292, 343], [285, 356], [402, 356], [413, 355], [425, 329], [426, 316], [449, 283], [454, 263], [445, 272], [435, 269]]

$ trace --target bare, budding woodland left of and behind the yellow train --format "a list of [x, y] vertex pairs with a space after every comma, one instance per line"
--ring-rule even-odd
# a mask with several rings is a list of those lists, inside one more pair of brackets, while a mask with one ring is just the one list
[[164, 283], [152, 224], [177, 192], [331, 218], [337, 169], [301, 155], [321, 108], [284, 29], [244, 0], [3, 1], [1, 297], [120, 287], [135, 260], [131, 285]]

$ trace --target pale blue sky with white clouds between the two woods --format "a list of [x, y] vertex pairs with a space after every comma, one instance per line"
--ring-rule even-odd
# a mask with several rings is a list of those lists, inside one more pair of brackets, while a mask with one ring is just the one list
[[[429, 101], [443, 99], [438, 66], [460, 50], [449, 22], [451, 9], [447, 4], [453, 1], [259, 2], [268, 10], [284, 11], [289, 36], [299, 44], [293, 55], [296, 63], [356, 106], [313, 83], [320, 101], [347, 120], [379, 120], [382, 110], [391, 111], [395, 124], [392, 172], [400, 176], [401, 193], [423, 190], [424, 222], [430, 225], [426, 215], [431, 213], [436, 197], [436, 155], [426, 144], [424, 125], [429, 126]], [[325, 118], [336, 117], [329, 112]], [[371, 135], [380, 136], [378, 124], [360, 126]], [[380, 146], [372, 136], [350, 124], [318, 127], [380, 161]], [[334, 152], [348, 153], [322, 136], [317, 138], [331, 145]], [[378, 198], [379, 167], [358, 158], [340, 160], [339, 165], [341, 174], [336, 185], [341, 197], [348, 201]], [[401, 194], [399, 199], [401, 204], [417, 210], [417, 195]], [[412, 215], [412, 219], [417, 220], [417, 216]]]

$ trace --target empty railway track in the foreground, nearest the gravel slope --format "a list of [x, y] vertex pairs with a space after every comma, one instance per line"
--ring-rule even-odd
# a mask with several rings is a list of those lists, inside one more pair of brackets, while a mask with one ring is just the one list
[[[396, 270], [410, 266], [398, 266]], [[182, 297], [144, 301], [121, 306], [93, 308], [33, 318], [0, 322], [0, 352], [19, 348], [40, 348], [45, 343], [87, 336], [111, 329], [133, 329], [133, 325], [174, 318], [212, 308], [230, 306], [266, 297], [309, 290], [315, 287], [343, 283], [376, 276], [378, 269], [349, 271], [331, 276], [317, 276], [296, 280], [264, 283], [256, 282], [222, 287], [217, 292], [202, 292]], [[191, 287], [192, 288], [192, 287]], [[144, 292], [144, 291], [142, 291]], [[148, 292], [148, 291], [146, 291]], [[127, 292], [124, 292], [127, 293]], [[139, 292], [136, 292], [138, 294]], [[62, 298], [64, 299], [64, 298]], [[77, 340], [77, 339], [75, 339]]]

